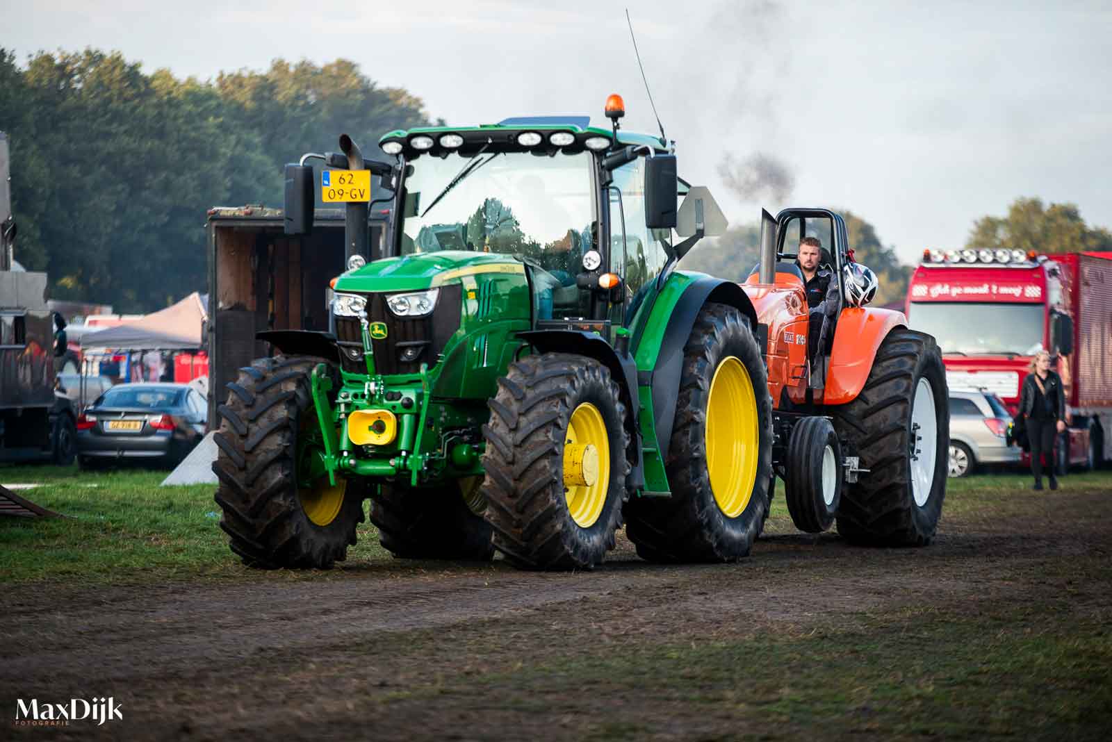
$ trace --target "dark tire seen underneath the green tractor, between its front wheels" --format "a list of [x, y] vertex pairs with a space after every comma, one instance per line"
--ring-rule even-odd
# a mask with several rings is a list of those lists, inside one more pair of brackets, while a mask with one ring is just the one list
[[461, 488], [471, 485], [477, 482], [435, 490], [383, 484], [370, 495], [370, 522], [383, 548], [398, 559], [490, 561], [490, 525], [464, 500]]

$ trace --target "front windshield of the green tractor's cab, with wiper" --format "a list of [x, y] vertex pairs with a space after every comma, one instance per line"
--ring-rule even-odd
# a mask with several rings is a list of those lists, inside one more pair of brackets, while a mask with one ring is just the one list
[[403, 255], [440, 250], [518, 255], [530, 265], [540, 314], [583, 315], [575, 277], [597, 232], [588, 153], [426, 156], [411, 164]]

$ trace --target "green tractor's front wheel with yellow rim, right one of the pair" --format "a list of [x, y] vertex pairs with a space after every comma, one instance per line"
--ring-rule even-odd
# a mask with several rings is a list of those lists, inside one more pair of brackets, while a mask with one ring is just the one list
[[483, 493], [494, 545], [524, 569], [592, 569], [614, 548], [629, 462], [610, 373], [570, 353], [510, 363], [488, 402]]

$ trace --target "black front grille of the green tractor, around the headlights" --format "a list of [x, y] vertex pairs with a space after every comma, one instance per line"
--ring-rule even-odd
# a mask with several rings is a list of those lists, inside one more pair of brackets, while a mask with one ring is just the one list
[[[370, 341], [375, 351], [375, 369], [378, 373], [393, 374], [417, 373], [421, 363], [431, 367], [459, 329], [463, 285], [454, 283], [440, 287], [433, 312], [414, 319], [395, 317], [386, 307], [386, 298], [389, 295], [391, 294], [367, 294], [367, 321], [386, 324], [386, 338]], [[344, 370], [349, 373], [366, 373], [359, 320], [337, 317], [336, 339]], [[404, 357], [407, 351], [409, 355]]]

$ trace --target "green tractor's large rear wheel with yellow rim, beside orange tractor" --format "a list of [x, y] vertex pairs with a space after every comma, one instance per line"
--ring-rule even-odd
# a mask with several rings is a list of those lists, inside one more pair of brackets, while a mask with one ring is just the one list
[[748, 555], [768, 513], [772, 399], [761, 348], [733, 307], [704, 307], [684, 347], [665, 471], [671, 498], [626, 507], [626, 535], [642, 559]]

